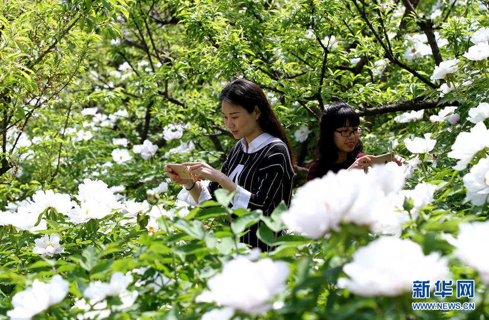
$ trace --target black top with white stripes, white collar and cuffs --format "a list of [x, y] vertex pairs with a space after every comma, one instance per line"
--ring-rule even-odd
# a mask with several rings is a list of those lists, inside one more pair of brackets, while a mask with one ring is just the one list
[[[243, 148], [242, 141], [236, 143], [231, 148], [221, 171], [238, 185], [232, 203], [233, 209], [260, 209], [265, 215], [270, 215], [282, 200], [285, 200], [286, 205], [289, 206], [295, 178], [294, 171], [289, 149], [284, 142], [273, 138], [269, 133], [264, 133], [255, 138], [251, 144], [256, 143], [257, 139], [265, 143], [258, 149], [251, 149], [248, 152]], [[221, 188], [219, 183], [210, 182], [207, 188], [203, 188], [199, 203], [208, 200], [209, 197], [214, 198], [214, 191], [218, 188]], [[190, 199], [191, 197], [183, 199], [180, 194], [178, 198], [181, 200], [193, 200]], [[191, 201], [187, 202], [191, 203]], [[251, 226], [249, 232], [242, 236], [241, 242], [267, 251], [267, 245], [256, 236], [258, 227], [259, 224]]]

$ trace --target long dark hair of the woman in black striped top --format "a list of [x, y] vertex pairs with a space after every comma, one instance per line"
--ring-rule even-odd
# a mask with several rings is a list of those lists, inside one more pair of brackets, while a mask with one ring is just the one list
[[222, 89], [218, 99], [227, 103], [240, 105], [248, 113], [253, 112], [255, 106], [258, 106], [261, 112], [258, 118], [258, 124], [265, 132], [279, 138], [287, 145], [290, 161], [292, 165], [295, 164], [295, 155], [292, 152], [292, 148], [290, 148], [289, 139], [287, 139], [285, 130], [280, 125], [275, 113], [273, 113], [267, 96], [265, 96], [265, 93], [258, 85], [245, 79], [232, 80]]

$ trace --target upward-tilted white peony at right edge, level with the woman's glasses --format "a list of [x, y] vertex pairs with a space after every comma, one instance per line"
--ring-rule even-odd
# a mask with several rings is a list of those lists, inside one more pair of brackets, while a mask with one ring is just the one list
[[489, 132], [484, 122], [479, 122], [470, 129], [470, 132], [459, 133], [447, 156], [459, 159], [453, 169], [464, 170], [474, 155], [487, 147], [489, 147]]

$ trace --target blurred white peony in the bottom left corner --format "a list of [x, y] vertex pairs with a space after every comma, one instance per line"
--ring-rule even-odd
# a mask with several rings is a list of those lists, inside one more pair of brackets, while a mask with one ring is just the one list
[[7, 311], [10, 319], [31, 319], [50, 306], [60, 303], [68, 294], [69, 282], [54, 275], [49, 283], [35, 279], [32, 286], [16, 293], [12, 298], [13, 310]]

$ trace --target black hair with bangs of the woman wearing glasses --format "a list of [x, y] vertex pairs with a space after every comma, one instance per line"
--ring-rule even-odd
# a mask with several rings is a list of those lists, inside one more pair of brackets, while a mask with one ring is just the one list
[[[333, 132], [337, 128], [345, 127], [346, 123], [350, 127], [360, 125], [360, 118], [354, 107], [344, 102], [335, 103], [327, 107], [319, 120], [319, 139], [315, 150], [316, 156], [325, 163], [334, 163], [338, 160], [338, 152], [334, 145]], [[356, 143], [355, 149], [348, 152], [347, 160], [355, 161], [356, 155], [363, 150], [360, 139]]]

